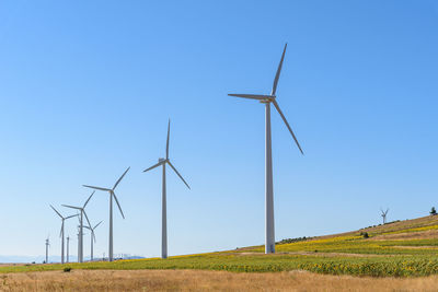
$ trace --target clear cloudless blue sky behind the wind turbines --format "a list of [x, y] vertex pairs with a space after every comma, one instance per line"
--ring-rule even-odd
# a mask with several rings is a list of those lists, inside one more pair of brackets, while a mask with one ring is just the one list
[[[170, 255], [264, 242], [269, 93], [276, 240], [426, 215], [438, 207], [436, 1], [0, 1], [1, 255], [42, 255], [53, 203], [118, 188], [115, 253], [160, 254], [164, 155]], [[108, 196], [90, 219], [107, 253]], [[76, 236], [76, 222], [67, 231]], [[76, 241], [71, 249], [76, 252]], [[89, 237], [85, 237], [89, 254]], [[74, 253], [76, 254], [76, 253]]]

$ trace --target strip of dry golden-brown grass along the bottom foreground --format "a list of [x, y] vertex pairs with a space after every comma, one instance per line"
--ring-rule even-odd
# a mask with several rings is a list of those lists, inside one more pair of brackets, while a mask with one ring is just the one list
[[306, 271], [73, 270], [0, 276], [0, 291], [437, 291], [437, 276], [357, 278]]

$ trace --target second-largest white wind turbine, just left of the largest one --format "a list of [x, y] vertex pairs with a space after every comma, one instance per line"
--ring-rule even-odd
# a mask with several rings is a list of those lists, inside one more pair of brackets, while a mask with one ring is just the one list
[[170, 139], [170, 133], [171, 133], [171, 120], [169, 119], [169, 125], [168, 125], [168, 142], [165, 144], [165, 159], [159, 159], [158, 163], [155, 165], [152, 165], [151, 167], [147, 168], [143, 171], [143, 173], [149, 172], [150, 170], [153, 170], [160, 165], [163, 166], [163, 186], [162, 186], [162, 205], [161, 205], [161, 258], [166, 258], [168, 257], [168, 208], [166, 208], [166, 189], [165, 189], [165, 164], [169, 164], [171, 168], [176, 173], [177, 176], [180, 176], [181, 180], [187, 186], [189, 189], [191, 187], [184, 180], [184, 178], [181, 176], [181, 174], [176, 171], [175, 166], [171, 163], [169, 159], [169, 139]]

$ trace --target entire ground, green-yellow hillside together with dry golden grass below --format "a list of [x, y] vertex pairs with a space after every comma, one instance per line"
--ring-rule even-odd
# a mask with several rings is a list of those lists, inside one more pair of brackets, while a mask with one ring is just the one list
[[438, 291], [438, 215], [263, 250], [0, 265], [0, 291]]

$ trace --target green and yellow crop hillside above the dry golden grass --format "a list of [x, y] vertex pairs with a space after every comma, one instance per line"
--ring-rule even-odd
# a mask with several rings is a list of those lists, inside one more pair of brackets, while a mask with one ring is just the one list
[[438, 273], [438, 215], [278, 244], [229, 252], [115, 262], [0, 267], [0, 272], [73, 269], [206, 269], [244, 272], [309, 270], [331, 275], [407, 277]]

